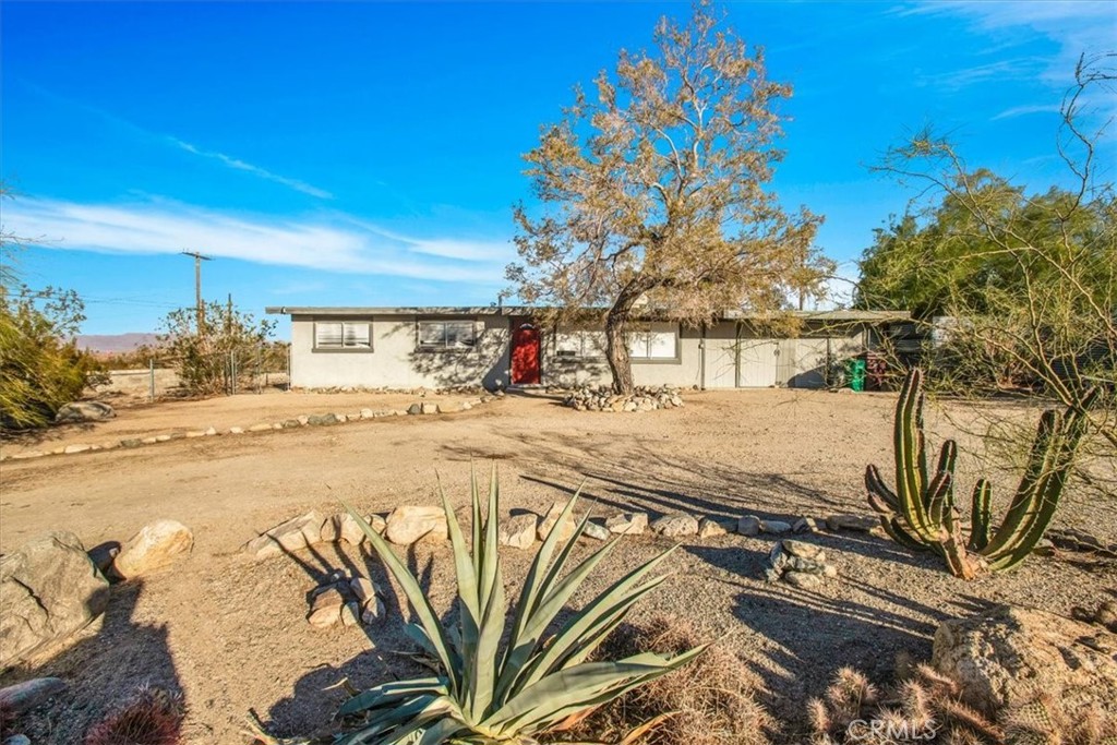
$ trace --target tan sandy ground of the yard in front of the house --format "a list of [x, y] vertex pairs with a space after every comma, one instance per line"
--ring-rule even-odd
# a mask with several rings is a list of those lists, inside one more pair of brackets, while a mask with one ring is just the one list
[[[304, 398], [299, 398], [304, 397]], [[367, 397], [365, 397], [367, 398]], [[326, 546], [296, 557], [251, 563], [238, 547], [258, 532], [340, 500], [367, 512], [404, 503], [435, 504], [435, 471], [459, 504], [468, 498], [470, 458], [500, 469], [503, 508], [546, 509], [585, 479], [600, 512], [685, 510], [764, 518], [866, 512], [865, 464], [890, 462], [891, 394], [806, 391], [694, 393], [684, 409], [641, 414], [579, 413], [543, 394], [508, 397], [443, 417], [405, 417], [258, 436], [200, 438], [134, 450], [4, 461], [0, 550], [49, 529], [69, 529], [92, 546], [127, 538], [145, 522], [170, 517], [191, 526], [193, 553], [172, 571], [114, 586], [99, 633], [89, 634], [35, 671], [60, 675], [70, 694], [35, 722], [36, 743], [74, 743], [95, 718], [139, 682], [181, 688], [188, 743], [244, 743], [247, 713], [275, 735], [322, 726], [344, 694], [407, 670], [398, 603], [378, 627], [316, 631], [305, 621], [316, 577], [375, 561]], [[98, 426], [97, 438], [124, 431], [213, 424], [245, 426], [292, 413], [349, 411], [360, 394], [236, 397], [132, 410]], [[298, 409], [298, 411], [295, 411]], [[981, 416], [974, 407], [960, 416]], [[1027, 412], [1025, 412], [1027, 413]], [[1023, 416], [1023, 414], [1022, 414]], [[1030, 416], [1030, 414], [1028, 414]], [[187, 421], [189, 420], [189, 421]], [[938, 413], [938, 436], [949, 431]], [[120, 429], [116, 429], [120, 428]], [[102, 437], [104, 436], [104, 437]], [[68, 436], [67, 436], [68, 437]], [[97, 440], [94, 440], [97, 441]], [[972, 441], [963, 438], [964, 483]], [[888, 470], [887, 468], [885, 469]], [[1001, 503], [1010, 486], [999, 484]], [[1057, 523], [1117, 536], [1113, 504], [1070, 494]], [[842, 665], [890, 675], [895, 655], [926, 657], [938, 621], [989, 603], [1012, 602], [1069, 613], [1117, 594], [1117, 567], [1085, 555], [1032, 557], [1019, 571], [974, 583], [949, 577], [934, 558], [859, 534], [820, 534], [841, 576], [817, 592], [765, 584], [772, 538], [731, 535], [687, 539], [667, 562], [670, 579], [634, 613], [688, 617], [731, 644], [764, 681], [757, 698], [784, 723], [776, 742], [801, 743], [803, 704]], [[669, 546], [628, 539], [575, 598], [584, 602], [628, 567]], [[586, 548], [588, 551], [588, 548]], [[407, 552], [449, 604], [452, 567], [445, 545]], [[506, 580], [518, 590], [527, 552], [508, 550]], [[0, 685], [31, 675], [0, 676]]]

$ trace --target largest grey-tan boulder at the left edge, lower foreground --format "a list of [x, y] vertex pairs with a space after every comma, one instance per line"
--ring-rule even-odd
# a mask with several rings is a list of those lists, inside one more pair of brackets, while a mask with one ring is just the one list
[[0, 556], [0, 667], [8, 667], [101, 615], [108, 581], [76, 535], [48, 533]]

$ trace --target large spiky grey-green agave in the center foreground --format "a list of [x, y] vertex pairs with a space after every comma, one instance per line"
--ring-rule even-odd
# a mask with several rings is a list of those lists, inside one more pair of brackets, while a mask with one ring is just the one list
[[408, 627], [409, 632], [437, 660], [438, 675], [385, 682], [350, 698], [338, 716], [363, 715], [363, 725], [342, 737], [340, 745], [528, 745], [536, 742], [536, 735], [686, 665], [706, 648], [670, 658], [643, 653], [617, 661], [586, 661], [637, 601], [666, 579], [643, 581], [674, 548], [629, 572], [551, 630], [558, 612], [621, 537], [565, 572], [589, 519], [583, 518], [573, 535], [561, 542], [560, 526], [573, 519], [577, 494], [543, 541], [509, 619], [497, 539], [500, 499], [495, 467], [484, 518], [476, 475], [471, 487], [470, 551], [439, 485], [458, 577], [458, 619], [452, 628], [439, 620], [419, 582], [388, 543], [346, 505], [407, 595], [418, 620]]

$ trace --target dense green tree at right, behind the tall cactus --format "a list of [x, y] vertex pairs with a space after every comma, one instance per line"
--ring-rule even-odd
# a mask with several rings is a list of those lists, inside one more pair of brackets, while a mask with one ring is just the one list
[[[1098, 156], [1113, 143], [1108, 121], [1086, 128], [1096, 117], [1082, 104], [1096, 89], [1113, 95], [1115, 58], [1081, 59], [1063, 99], [1057, 150], [1070, 187], [1029, 193], [972, 169], [929, 131], [890, 150], [877, 170], [918, 185], [926, 201], [878, 231], [857, 294], [866, 307], [951, 317], [926, 361], [939, 389], [974, 395], [1012, 386], [1088, 416], [1079, 465], [1117, 457], [1117, 192]], [[1095, 385], [1102, 393], [1088, 407]], [[1027, 429], [994, 418], [977, 433], [994, 455], [1027, 458]], [[1097, 472], [1076, 469], [1114, 494], [1111, 477]]]

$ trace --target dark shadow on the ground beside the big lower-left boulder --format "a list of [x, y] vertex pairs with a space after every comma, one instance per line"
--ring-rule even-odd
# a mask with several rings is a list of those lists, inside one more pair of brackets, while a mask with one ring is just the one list
[[143, 588], [142, 580], [106, 588], [109, 598], [104, 614], [71, 643], [45, 660], [32, 659], [0, 675], [0, 687], [47, 676], [67, 684], [65, 691], [22, 716], [15, 732], [25, 733], [32, 743], [70, 745], [82, 742], [93, 724], [128, 704], [143, 685], [182, 694], [166, 627], [135, 618]]

